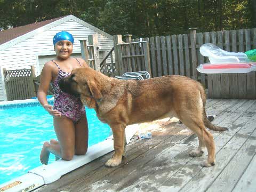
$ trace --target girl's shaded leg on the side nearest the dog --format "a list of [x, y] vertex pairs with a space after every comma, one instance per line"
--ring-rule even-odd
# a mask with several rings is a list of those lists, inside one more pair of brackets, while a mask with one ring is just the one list
[[76, 146], [75, 154], [84, 155], [88, 148], [88, 123], [86, 115], [84, 115], [76, 124]]

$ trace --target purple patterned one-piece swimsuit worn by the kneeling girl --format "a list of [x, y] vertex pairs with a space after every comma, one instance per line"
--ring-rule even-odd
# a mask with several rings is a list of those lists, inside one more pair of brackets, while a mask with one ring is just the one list
[[[77, 60], [77, 59], [76, 59]], [[77, 60], [78, 61], [78, 60]], [[54, 91], [54, 105], [53, 108], [60, 111], [61, 115], [64, 115], [77, 123], [82, 116], [85, 115], [85, 108], [79, 97], [70, 95], [60, 90], [58, 82], [60, 79], [65, 78], [70, 75], [63, 71], [59, 65], [52, 60], [52, 62], [58, 67], [58, 76], [52, 83], [52, 88]], [[81, 63], [78, 61], [80, 67]]]

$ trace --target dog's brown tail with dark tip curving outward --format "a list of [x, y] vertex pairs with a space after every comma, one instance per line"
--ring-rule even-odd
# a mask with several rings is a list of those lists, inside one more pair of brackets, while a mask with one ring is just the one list
[[205, 111], [205, 105], [206, 105], [206, 95], [205, 95], [205, 92], [204, 92], [204, 89], [202, 87], [202, 85], [200, 85], [201, 89], [200, 90], [200, 93], [201, 93], [201, 98], [202, 98], [202, 101], [203, 101], [203, 120], [204, 120], [204, 125], [206, 127], [208, 127], [210, 130], [213, 130], [213, 131], [226, 131], [228, 130], [227, 127], [221, 127], [221, 126], [217, 126], [217, 125], [213, 125], [209, 119], [207, 118], [206, 116], [206, 111]]

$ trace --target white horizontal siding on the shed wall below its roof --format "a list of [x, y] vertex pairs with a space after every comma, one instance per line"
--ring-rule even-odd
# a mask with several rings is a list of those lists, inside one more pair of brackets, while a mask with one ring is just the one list
[[[40, 68], [38, 57], [42, 55], [54, 55], [52, 39], [53, 36], [61, 30], [66, 30], [71, 33], [75, 39], [74, 53], [81, 53], [79, 40], [88, 40], [88, 35], [95, 34], [96, 32], [78, 23], [74, 20], [63, 22], [49, 30], [42, 31], [38, 35], [26, 39], [18, 44], [5, 49], [0, 52], [1, 68], [10, 69], [26, 69], [31, 65], [35, 66], [36, 75], [39, 75]], [[114, 46], [113, 40], [99, 34], [100, 49], [106, 49], [108, 52]], [[3, 71], [1, 71], [1, 75]], [[1, 77], [0, 75], [0, 77]], [[2, 77], [0, 78], [0, 101], [4, 101], [4, 84]]]

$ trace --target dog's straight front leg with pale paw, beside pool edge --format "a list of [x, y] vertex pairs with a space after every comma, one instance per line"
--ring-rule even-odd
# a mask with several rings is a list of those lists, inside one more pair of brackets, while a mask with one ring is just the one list
[[122, 124], [115, 124], [115, 125], [110, 125], [112, 131], [113, 131], [113, 135], [114, 135], [114, 149], [115, 149], [115, 153], [113, 155], [112, 158], [110, 158], [107, 162], [106, 162], [106, 166], [108, 167], [114, 167], [117, 166], [119, 164], [121, 164], [122, 162], [122, 157], [124, 154], [124, 145], [125, 145], [125, 125]]

